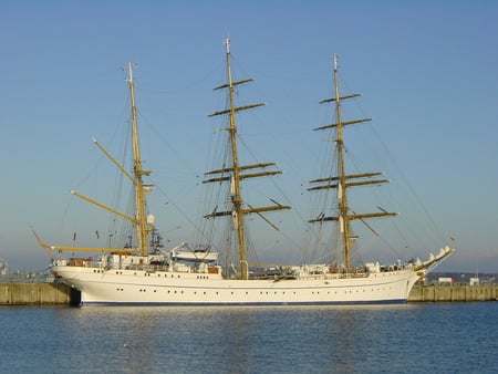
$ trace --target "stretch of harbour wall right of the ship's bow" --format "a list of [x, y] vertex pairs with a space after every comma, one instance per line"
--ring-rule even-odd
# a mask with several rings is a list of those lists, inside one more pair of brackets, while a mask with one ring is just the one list
[[497, 301], [498, 284], [415, 285], [408, 302]]

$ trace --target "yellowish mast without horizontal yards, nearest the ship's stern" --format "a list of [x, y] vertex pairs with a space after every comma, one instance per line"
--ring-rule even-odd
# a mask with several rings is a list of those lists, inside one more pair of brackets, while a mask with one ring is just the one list
[[145, 217], [145, 194], [144, 194], [144, 183], [142, 177], [144, 175], [149, 175], [151, 170], [142, 169], [141, 159], [141, 147], [138, 142], [138, 124], [136, 115], [136, 102], [135, 102], [135, 83], [133, 80], [133, 69], [136, 64], [128, 63], [126, 65], [128, 72], [128, 87], [129, 87], [129, 100], [132, 106], [132, 145], [133, 145], [133, 173], [134, 173], [134, 188], [135, 188], [135, 221], [136, 221], [136, 237], [137, 237], [137, 248], [142, 251], [142, 256], [148, 254], [148, 242], [147, 233], [149, 231], [148, 225]]

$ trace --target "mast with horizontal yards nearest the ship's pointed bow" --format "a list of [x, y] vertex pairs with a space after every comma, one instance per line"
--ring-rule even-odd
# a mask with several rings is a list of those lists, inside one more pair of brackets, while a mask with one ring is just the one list
[[[340, 95], [340, 93], [339, 93], [339, 73], [338, 73], [339, 69], [338, 69], [338, 55], [336, 54], [334, 54], [333, 62], [334, 62], [334, 97], [323, 100], [320, 102], [320, 104], [331, 103], [331, 102], [335, 103], [335, 123], [313, 128], [313, 131], [335, 128], [334, 143], [335, 143], [335, 152], [336, 152], [338, 175], [333, 176], [333, 177], [310, 180], [310, 183], [313, 183], [313, 184], [321, 183], [322, 185], [311, 187], [308, 190], [320, 190], [320, 189], [330, 189], [330, 188], [338, 189], [338, 216], [336, 217], [321, 216], [317, 219], [310, 220], [310, 222], [322, 222], [322, 221], [330, 221], [330, 220], [338, 221], [339, 232], [341, 236], [341, 247], [342, 247], [343, 253], [344, 253], [344, 267], [347, 270], [351, 270], [353, 268], [351, 250], [354, 245], [355, 237], [352, 235], [350, 221], [360, 219], [361, 221], [364, 222], [364, 219], [366, 219], [366, 218], [395, 216], [396, 214], [388, 212], [385, 210], [380, 211], [380, 212], [371, 212], [371, 214], [362, 214], [362, 215], [356, 215], [354, 212], [350, 212], [350, 207], [347, 204], [347, 189], [350, 187], [382, 184], [382, 183], [386, 183], [388, 180], [387, 179], [377, 179], [377, 180], [367, 179], [367, 178], [371, 178], [374, 176], [382, 175], [382, 173], [364, 173], [364, 174], [354, 174], [354, 175], [346, 175], [346, 173], [345, 173], [343, 127], [346, 125], [367, 122], [367, 121], [372, 121], [372, 120], [371, 118], [362, 118], [362, 120], [353, 120], [353, 121], [345, 121], [345, 122], [342, 121], [341, 101], [360, 96], [360, 94], [351, 94], [351, 95], [345, 95], [345, 96]], [[360, 180], [352, 181], [352, 179], [360, 179]]]

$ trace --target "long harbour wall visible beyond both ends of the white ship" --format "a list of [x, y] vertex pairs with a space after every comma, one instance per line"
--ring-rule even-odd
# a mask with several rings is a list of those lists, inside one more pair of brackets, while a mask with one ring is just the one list
[[[497, 301], [498, 284], [415, 285], [408, 302]], [[80, 292], [62, 283], [0, 283], [0, 305], [77, 305]]]

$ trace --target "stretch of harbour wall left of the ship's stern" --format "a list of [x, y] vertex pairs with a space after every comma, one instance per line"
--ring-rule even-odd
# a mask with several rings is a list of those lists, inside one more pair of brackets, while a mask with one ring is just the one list
[[68, 305], [80, 292], [62, 283], [0, 283], [0, 305]]

